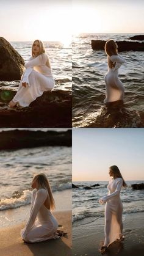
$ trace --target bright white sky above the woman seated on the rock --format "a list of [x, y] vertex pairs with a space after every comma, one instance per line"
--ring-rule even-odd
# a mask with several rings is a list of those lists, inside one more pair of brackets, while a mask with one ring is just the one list
[[0, 36], [9, 42], [71, 41], [71, 0], [0, 0]]

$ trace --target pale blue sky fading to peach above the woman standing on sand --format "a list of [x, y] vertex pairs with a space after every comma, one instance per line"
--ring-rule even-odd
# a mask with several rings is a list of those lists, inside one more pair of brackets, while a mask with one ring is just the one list
[[107, 181], [116, 165], [125, 180], [144, 180], [144, 129], [73, 129], [73, 181]]

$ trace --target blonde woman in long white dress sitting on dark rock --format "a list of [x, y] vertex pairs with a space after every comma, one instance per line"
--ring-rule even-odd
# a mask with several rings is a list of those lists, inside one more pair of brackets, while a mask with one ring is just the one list
[[43, 42], [35, 40], [32, 45], [32, 57], [25, 65], [26, 71], [21, 76], [18, 92], [9, 103], [13, 108], [17, 104], [27, 107], [44, 91], [54, 88], [54, 78], [51, 73], [51, 65], [48, 55], [45, 53]]

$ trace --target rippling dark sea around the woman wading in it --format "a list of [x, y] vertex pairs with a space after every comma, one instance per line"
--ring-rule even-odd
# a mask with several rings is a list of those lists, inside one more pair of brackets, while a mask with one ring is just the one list
[[[119, 78], [125, 88], [124, 104], [105, 106], [104, 75], [107, 56], [94, 51], [91, 40], [129, 40], [133, 34], [81, 34], [73, 36], [73, 127], [144, 126], [144, 52], [124, 51]], [[138, 41], [135, 41], [138, 42]], [[141, 41], [142, 42], [142, 41]]]

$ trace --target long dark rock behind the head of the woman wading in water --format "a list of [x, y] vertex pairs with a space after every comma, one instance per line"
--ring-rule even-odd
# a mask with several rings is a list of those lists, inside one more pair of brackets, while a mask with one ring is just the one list
[[[104, 40], [92, 40], [92, 49], [104, 50], [106, 42]], [[118, 51], [144, 51], [144, 43], [119, 41], [117, 44]]]

